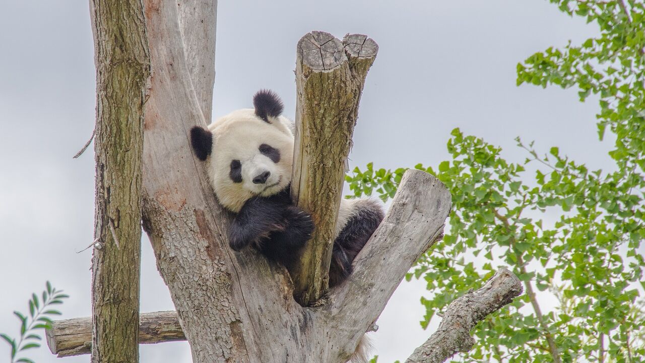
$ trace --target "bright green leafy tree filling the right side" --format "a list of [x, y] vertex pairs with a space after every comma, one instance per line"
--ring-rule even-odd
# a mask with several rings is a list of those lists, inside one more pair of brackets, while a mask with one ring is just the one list
[[[597, 95], [600, 140], [606, 130], [616, 137], [610, 152], [615, 171], [591, 171], [557, 147], [541, 156], [532, 142], [517, 139], [525, 163], [539, 163], [531, 178], [524, 165], [504, 160], [499, 147], [453, 130], [452, 160], [436, 170], [453, 195], [451, 230], [419, 259], [408, 279], [424, 278], [432, 293], [421, 298], [424, 327], [460, 292], [490, 276], [495, 265], [510, 265], [523, 281], [527, 294], [477, 326], [480, 339], [464, 359], [640, 362], [645, 359], [642, 300], [637, 300], [639, 288], [645, 288], [639, 251], [645, 238], [645, 5], [551, 3], [597, 24], [600, 36], [534, 54], [517, 66], [517, 83], [578, 87], [581, 101]], [[435, 172], [421, 164], [415, 169]], [[405, 170], [370, 164], [356, 169], [348, 182], [357, 196], [377, 192], [386, 200]], [[547, 209], [559, 213], [553, 225], [543, 223]], [[484, 263], [473, 261], [472, 254]], [[562, 306], [542, 311], [535, 289], [555, 291]], [[530, 313], [519, 311], [525, 306]]]

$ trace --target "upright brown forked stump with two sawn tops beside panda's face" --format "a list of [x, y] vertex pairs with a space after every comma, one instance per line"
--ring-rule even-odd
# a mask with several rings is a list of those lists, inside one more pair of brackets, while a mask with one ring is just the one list
[[376, 43], [361, 34], [341, 42], [329, 33], [311, 32], [297, 45], [292, 199], [312, 214], [316, 226], [292, 271], [295, 299], [304, 306], [328, 289], [345, 160], [377, 51]]

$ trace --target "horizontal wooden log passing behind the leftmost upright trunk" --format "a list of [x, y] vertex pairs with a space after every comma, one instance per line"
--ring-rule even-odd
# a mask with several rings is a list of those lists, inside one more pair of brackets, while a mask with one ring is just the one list
[[[89, 354], [92, 347], [92, 320], [58, 320], [45, 332], [47, 346], [57, 357]], [[139, 318], [139, 343], [155, 344], [186, 340], [175, 311], [143, 313]]]

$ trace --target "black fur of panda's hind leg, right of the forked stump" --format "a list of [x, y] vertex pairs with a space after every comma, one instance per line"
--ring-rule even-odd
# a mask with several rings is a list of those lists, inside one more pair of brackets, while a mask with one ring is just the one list
[[352, 262], [383, 220], [381, 207], [365, 202], [358, 213], [350, 218], [333, 242], [332, 264], [329, 267], [329, 285], [342, 284], [352, 274]]

